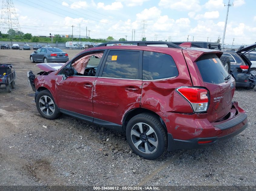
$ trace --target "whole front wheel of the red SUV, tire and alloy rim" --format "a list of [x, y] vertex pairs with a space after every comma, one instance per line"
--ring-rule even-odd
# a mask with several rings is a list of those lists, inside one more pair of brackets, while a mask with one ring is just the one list
[[60, 111], [49, 90], [40, 91], [36, 97], [35, 103], [42, 117], [46, 119], [58, 118]]

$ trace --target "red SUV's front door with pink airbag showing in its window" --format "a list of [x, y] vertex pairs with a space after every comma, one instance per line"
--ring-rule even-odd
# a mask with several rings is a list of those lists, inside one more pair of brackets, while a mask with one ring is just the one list
[[[103, 55], [102, 51], [96, 53]], [[73, 59], [67, 65], [68, 67], [71, 67], [78, 59], [80, 60], [87, 56], [87, 61], [85, 61], [86, 64], [84, 65], [85, 69], [81, 70], [83, 72], [79, 70], [81, 73], [78, 73], [79, 71], [75, 69], [75, 74], [66, 79], [63, 79], [63, 75], [58, 75], [56, 82], [58, 107], [66, 110], [66, 112], [81, 114], [83, 118], [88, 117], [87, 120], [89, 121], [93, 120], [92, 92], [98, 75], [98, 65], [101, 63], [101, 57], [95, 57], [94, 54], [85, 53], [84, 55], [79, 55], [77, 59]]]

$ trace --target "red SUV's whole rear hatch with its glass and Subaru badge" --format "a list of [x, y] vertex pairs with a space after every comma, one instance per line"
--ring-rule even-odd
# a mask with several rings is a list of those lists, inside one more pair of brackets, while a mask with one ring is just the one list
[[235, 90], [234, 78], [228, 74], [214, 53], [203, 54], [195, 64], [201, 74], [202, 85], [209, 91], [207, 118], [210, 122], [215, 122], [226, 116], [231, 109]]

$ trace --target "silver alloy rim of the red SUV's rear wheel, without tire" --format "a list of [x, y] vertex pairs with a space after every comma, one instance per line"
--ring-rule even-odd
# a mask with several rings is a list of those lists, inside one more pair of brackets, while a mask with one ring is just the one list
[[131, 140], [139, 151], [146, 154], [154, 152], [158, 146], [155, 130], [146, 123], [136, 123], [132, 127]]

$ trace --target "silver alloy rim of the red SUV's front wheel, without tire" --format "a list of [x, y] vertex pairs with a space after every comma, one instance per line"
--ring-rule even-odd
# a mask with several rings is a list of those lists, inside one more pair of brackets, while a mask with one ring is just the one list
[[39, 107], [42, 113], [47, 116], [51, 116], [55, 112], [55, 104], [53, 100], [46, 95], [40, 97]]

